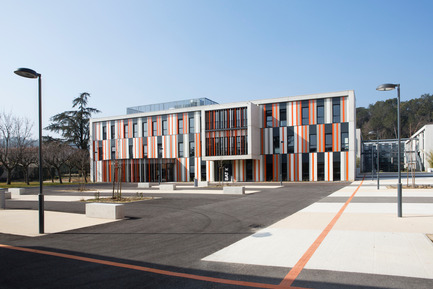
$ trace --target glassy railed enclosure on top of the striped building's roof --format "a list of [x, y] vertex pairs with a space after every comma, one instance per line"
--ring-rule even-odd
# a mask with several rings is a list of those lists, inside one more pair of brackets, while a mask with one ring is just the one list
[[205, 97], [193, 98], [193, 99], [185, 99], [185, 100], [178, 100], [178, 101], [170, 101], [170, 102], [128, 107], [126, 109], [126, 114], [154, 112], [154, 111], [161, 111], [161, 110], [194, 107], [194, 106], [202, 106], [202, 105], [212, 105], [212, 104], [218, 104], [218, 103]]

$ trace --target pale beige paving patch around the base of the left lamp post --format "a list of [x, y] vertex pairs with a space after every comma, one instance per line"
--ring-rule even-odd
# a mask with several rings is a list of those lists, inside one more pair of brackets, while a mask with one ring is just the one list
[[[88, 218], [84, 214], [45, 211], [45, 233], [59, 233], [115, 220]], [[0, 233], [28, 237], [39, 234], [39, 212], [35, 210], [0, 210]]]

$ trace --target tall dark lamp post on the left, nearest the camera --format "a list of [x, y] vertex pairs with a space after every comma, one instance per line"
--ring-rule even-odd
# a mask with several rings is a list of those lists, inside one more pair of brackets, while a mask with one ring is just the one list
[[42, 176], [42, 85], [41, 74], [29, 68], [18, 68], [14, 71], [15, 74], [26, 78], [38, 79], [38, 96], [39, 96], [39, 234], [44, 233], [44, 192], [43, 192], [43, 176]]

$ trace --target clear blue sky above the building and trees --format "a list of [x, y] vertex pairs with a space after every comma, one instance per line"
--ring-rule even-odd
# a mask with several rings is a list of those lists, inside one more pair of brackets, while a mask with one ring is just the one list
[[[8, 1], [1, 110], [37, 127], [89, 92], [98, 116], [208, 97], [219, 103], [355, 90], [357, 107], [433, 93], [433, 1]], [[35, 136], [36, 136], [36, 129]], [[46, 132], [44, 132], [45, 134]]]

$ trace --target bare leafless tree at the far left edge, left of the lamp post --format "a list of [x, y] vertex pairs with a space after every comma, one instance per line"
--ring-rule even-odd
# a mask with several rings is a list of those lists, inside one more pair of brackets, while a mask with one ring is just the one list
[[0, 163], [7, 172], [7, 184], [11, 183], [12, 171], [19, 164], [23, 151], [31, 143], [32, 123], [11, 112], [0, 113]]

